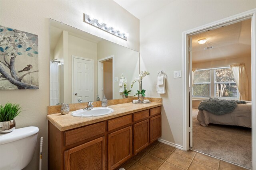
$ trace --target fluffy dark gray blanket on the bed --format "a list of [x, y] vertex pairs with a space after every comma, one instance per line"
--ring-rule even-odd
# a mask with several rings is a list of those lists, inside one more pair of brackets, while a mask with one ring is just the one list
[[214, 98], [202, 101], [198, 109], [206, 110], [214, 115], [224, 115], [231, 113], [237, 104], [246, 104], [246, 102], [243, 100], [220, 100]]

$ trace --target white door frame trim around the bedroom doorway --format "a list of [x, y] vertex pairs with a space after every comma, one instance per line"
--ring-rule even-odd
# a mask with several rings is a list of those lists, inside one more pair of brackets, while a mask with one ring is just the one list
[[[232, 16], [220, 21], [216, 21], [207, 25], [203, 25], [201, 27], [197, 27], [195, 29], [186, 31], [183, 33], [183, 76], [184, 76], [184, 95], [183, 95], [183, 104], [184, 104], [184, 129], [183, 129], [183, 149], [184, 150], [189, 150], [189, 145], [192, 142], [192, 132], [193, 132], [193, 127], [190, 127], [192, 125], [192, 114], [190, 116], [190, 111], [192, 113], [192, 71], [190, 72], [189, 68], [192, 68], [192, 59], [189, 58], [190, 55], [190, 42], [189, 38], [190, 36], [196, 35], [198, 33], [203, 33], [206, 32], [208, 30], [213, 30], [216, 28], [220, 28], [223, 26], [227, 26], [227, 25], [231, 25], [234, 23], [238, 23], [240, 21], [245, 21], [245, 20], [251, 20], [251, 50], [250, 50], [250, 54], [251, 54], [251, 82], [252, 82], [252, 88], [251, 88], [251, 103], [252, 103], [252, 112], [251, 112], [251, 121], [252, 121], [252, 167], [255, 168], [256, 166], [256, 109], [255, 109], [255, 100], [256, 100], [256, 88], [255, 88], [255, 80], [256, 80], [256, 47], [255, 47], [255, 43], [256, 43], [256, 10], [250, 10], [248, 12], [244, 12], [241, 14], [238, 14], [236, 16]], [[206, 49], [207, 50], [207, 49]], [[193, 48], [192, 48], [193, 51]], [[233, 63], [234, 64], [234, 63]], [[213, 75], [215, 74], [216, 71], [218, 71], [217, 69], [224, 69], [224, 68], [211, 68], [213, 70]], [[201, 70], [203, 71], [203, 70]], [[189, 76], [190, 74], [190, 76]], [[210, 73], [211, 74], [211, 73]], [[190, 78], [190, 79], [189, 79]], [[218, 84], [219, 82], [214, 82], [215, 84]], [[222, 82], [224, 83], [224, 82]], [[215, 85], [213, 84], [213, 85]], [[208, 86], [208, 85], [204, 85], [204, 86]], [[207, 91], [207, 90], [206, 90]], [[210, 91], [210, 87], [208, 89], [208, 91]], [[190, 95], [191, 94], [191, 95]], [[215, 94], [215, 92], [213, 92], [213, 94]], [[191, 96], [191, 97], [190, 97]], [[211, 97], [211, 96], [209, 96]], [[191, 120], [191, 121], [189, 121]], [[191, 124], [189, 124], [191, 122]], [[190, 131], [190, 132], [189, 132]], [[192, 144], [192, 143], [191, 143]], [[209, 149], [211, 149], [212, 147], [210, 147]]]

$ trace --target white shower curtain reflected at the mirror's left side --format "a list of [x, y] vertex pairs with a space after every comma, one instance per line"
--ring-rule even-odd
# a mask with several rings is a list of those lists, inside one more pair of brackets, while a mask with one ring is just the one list
[[59, 66], [56, 62], [50, 62], [50, 105], [56, 105], [60, 102], [59, 90]]

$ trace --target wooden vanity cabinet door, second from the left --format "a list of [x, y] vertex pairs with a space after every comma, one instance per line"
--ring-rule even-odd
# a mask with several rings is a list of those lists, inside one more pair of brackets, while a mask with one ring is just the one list
[[132, 127], [108, 134], [108, 170], [113, 170], [132, 157]]

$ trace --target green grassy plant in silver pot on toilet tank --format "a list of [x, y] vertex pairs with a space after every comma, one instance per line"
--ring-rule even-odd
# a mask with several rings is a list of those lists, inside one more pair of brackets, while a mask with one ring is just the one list
[[21, 112], [18, 104], [0, 105], [0, 133], [9, 133], [16, 127], [14, 118]]

